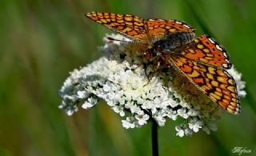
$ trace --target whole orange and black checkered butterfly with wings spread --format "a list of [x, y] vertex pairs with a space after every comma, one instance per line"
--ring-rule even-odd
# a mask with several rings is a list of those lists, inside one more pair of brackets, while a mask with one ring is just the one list
[[213, 38], [194, 38], [194, 28], [178, 20], [142, 19], [131, 14], [87, 13], [86, 17], [148, 47], [214, 102], [231, 114], [238, 114], [240, 104], [234, 78], [226, 71], [231, 62], [226, 50]]

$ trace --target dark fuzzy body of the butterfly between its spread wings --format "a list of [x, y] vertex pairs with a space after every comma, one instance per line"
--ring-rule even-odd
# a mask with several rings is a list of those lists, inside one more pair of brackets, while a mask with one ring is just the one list
[[160, 38], [154, 42], [152, 48], [149, 50], [153, 55], [171, 54], [180, 50], [186, 44], [192, 42], [194, 33], [191, 32], [177, 32], [166, 34], [164, 38]]

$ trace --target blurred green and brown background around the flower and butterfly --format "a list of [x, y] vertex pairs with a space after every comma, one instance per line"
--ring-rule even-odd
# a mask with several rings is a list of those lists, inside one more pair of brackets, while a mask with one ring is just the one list
[[253, 0], [1, 0], [0, 155], [151, 155], [150, 124], [122, 128], [104, 102], [67, 116], [58, 90], [69, 72], [99, 58], [111, 33], [84, 17], [89, 11], [179, 19], [211, 34], [229, 51], [246, 81], [242, 113], [225, 114], [218, 131], [175, 136], [175, 122], [159, 129], [160, 155], [256, 155], [256, 2]]

